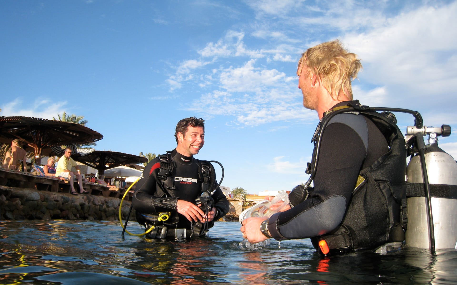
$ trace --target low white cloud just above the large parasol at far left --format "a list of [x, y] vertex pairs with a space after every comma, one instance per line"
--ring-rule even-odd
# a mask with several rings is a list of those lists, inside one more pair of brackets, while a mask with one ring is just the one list
[[24, 116], [53, 119], [53, 116], [65, 111], [66, 104], [66, 101], [55, 103], [46, 98], [37, 98], [34, 102], [27, 104], [20, 98], [16, 98], [14, 101], [2, 105], [0, 114], [5, 117]]

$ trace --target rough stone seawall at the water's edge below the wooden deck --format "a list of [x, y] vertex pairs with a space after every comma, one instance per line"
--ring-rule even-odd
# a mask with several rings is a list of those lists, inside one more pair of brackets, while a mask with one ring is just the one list
[[[119, 220], [121, 199], [115, 197], [64, 192], [38, 191], [33, 188], [0, 186], [0, 219], [66, 219]], [[131, 202], [122, 202], [122, 219], [128, 214]], [[135, 220], [134, 210], [129, 221]]]

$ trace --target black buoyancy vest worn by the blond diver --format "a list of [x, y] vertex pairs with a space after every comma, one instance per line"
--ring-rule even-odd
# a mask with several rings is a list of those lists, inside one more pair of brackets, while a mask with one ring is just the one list
[[348, 106], [327, 112], [319, 122], [313, 137], [313, 160], [308, 164], [308, 174], [311, 174], [308, 182], [313, 179], [317, 167], [319, 139], [325, 126], [336, 114], [351, 113], [370, 119], [386, 138], [389, 150], [371, 166], [360, 171], [343, 221], [332, 232], [311, 238], [316, 249], [319, 249], [321, 240], [325, 240], [330, 251], [374, 249], [388, 242], [404, 240], [403, 228], [407, 222], [404, 137], [392, 113], [380, 114], [356, 103], [351, 102]]

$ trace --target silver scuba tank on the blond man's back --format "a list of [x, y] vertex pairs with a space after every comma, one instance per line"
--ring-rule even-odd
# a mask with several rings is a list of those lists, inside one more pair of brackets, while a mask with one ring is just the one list
[[[448, 136], [451, 129], [447, 125], [440, 128], [424, 126], [420, 130], [408, 127], [407, 135], [416, 132], [429, 135], [429, 144], [425, 146], [425, 166], [430, 185], [440, 184], [446, 188], [447, 194], [431, 193], [431, 209], [436, 249], [457, 249], [457, 163], [451, 155], [438, 147], [436, 136]], [[424, 183], [420, 156], [411, 158], [406, 168], [408, 183]], [[454, 193], [452, 193], [454, 192]], [[430, 247], [429, 218], [425, 197], [407, 197], [408, 226], [405, 233], [405, 244], [412, 247], [428, 249]], [[419, 197], [420, 196], [420, 197]], [[441, 196], [441, 197], [440, 197]]]

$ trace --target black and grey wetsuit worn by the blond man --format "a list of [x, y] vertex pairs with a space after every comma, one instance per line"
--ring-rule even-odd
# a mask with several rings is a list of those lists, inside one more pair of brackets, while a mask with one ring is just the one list
[[[347, 104], [341, 102], [334, 108]], [[335, 115], [323, 132], [310, 198], [271, 216], [272, 237], [310, 238], [337, 228], [349, 207], [359, 172], [386, 152], [388, 142], [370, 119], [349, 113]]]

